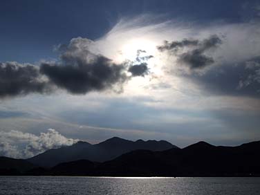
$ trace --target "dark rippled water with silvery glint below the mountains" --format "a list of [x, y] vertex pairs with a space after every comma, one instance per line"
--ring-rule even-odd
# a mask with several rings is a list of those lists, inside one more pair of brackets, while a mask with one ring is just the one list
[[0, 194], [260, 194], [260, 178], [1, 176]]

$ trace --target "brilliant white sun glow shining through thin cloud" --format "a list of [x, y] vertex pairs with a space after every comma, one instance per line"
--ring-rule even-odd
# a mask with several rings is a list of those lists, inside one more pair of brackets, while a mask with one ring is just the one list
[[[141, 77], [132, 77], [124, 86], [124, 95], [148, 95], [150, 86], [158, 84], [165, 77], [167, 65], [165, 54], [160, 53], [157, 46], [165, 39], [172, 39], [176, 32], [169, 32], [167, 22], [158, 24], [142, 24], [142, 17], [136, 19], [122, 19], [100, 39], [95, 40], [94, 50], [115, 63], [130, 63], [132, 65], [146, 63], [149, 74]], [[163, 31], [160, 32], [160, 29]], [[170, 36], [169, 36], [170, 35]], [[176, 35], [176, 38], [180, 37]], [[138, 50], [140, 60], [138, 61]], [[149, 59], [142, 57], [152, 56]], [[176, 78], [175, 78], [176, 80]]]

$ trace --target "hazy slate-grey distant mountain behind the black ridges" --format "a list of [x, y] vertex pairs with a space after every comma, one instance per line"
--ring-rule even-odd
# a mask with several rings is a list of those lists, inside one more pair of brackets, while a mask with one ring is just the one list
[[137, 140], [136, 142], [133, 142], [131, 140], [114, 137], [96, 145], [91, 145], [88, 142], [77, 142], [72, 146], [49, 149], [44, 153], [28, 158], [27, 160], [30, 163], [41, 167], [53, 167], [59, 163], [82, 159], [94, 162], [104, 162], [136, 149], [163, 151], [171, 148], [178, 147], [163, 140]]

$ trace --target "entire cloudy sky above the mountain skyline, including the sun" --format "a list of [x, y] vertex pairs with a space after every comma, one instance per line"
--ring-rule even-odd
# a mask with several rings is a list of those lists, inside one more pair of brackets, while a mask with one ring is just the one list
[[0, 26], [0, 156], [260, 140], [259, 1], [3, 0]]

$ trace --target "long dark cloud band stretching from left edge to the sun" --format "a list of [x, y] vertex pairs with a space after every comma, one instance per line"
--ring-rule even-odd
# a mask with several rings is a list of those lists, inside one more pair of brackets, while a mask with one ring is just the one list
[[74, 94], [102, 91], [129, 79], [126, 68], [100, 55], [95, 55], [91, 62], [78, 56], [62, 57], [61, 63], [43, 63], [39, 67], [0, 63], [0, 98], [50, 93], [55, 87]]

